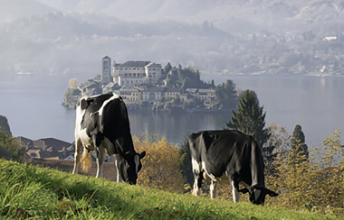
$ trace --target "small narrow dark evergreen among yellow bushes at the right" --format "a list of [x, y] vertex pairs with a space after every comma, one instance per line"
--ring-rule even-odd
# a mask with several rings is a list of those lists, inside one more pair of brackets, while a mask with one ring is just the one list
[[308, 146], [305, 143], [305, 136], [299, 124], [296, 124], [294, 132], [292, 133], [291, 148], [296, 149], [301, 156], [304, 156], [304, 160], [300, 160], [300, 162], [309, 159]]

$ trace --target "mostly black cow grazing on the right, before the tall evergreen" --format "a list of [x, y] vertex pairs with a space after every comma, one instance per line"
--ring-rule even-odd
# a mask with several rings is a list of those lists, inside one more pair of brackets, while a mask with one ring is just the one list
[[[239, 202], [239, 192], [248, 192], [257, 205], [263, 205], [266, 194], [278, 196], [264, 186], [263, 156], [252, 136], [230, 130], [202, 131], [190, 134], [188, 142], [195, 196], [201, 193], [202, 179], [211, 182], [212, 198], [217, 196], [219, 182], [232, 184], [234, 202]], [[239, 183], [245, 188], [239, 189]]]

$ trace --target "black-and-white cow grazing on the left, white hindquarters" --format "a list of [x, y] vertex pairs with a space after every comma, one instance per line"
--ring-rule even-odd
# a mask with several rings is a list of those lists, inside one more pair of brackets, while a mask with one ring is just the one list
[[[82, 156], [82, 146], [85, 148]], [[146, 155], [134, 150], [127, 107], [122, 98], [113, 93], [81, 98], [76, 108], [75, 162], [72, 173], [78, 166], [87, 171], [91, 166], [91, 150], [97, 152], [97, 176], [102, 177], [105, 150], [115, 155], [117, 181], [136, 184], [142, 168], [140, 159]]]

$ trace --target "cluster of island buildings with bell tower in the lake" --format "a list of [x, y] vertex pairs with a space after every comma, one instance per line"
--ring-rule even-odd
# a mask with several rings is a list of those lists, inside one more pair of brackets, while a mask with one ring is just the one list
[[[113, 71], [111, 70], [113, 69]], [[170, 110], [173, 107], [187, 111], [212, 111], [215, 102], [215, 85], [203, 87], [167, 87], [167, 80], [177, 78], [176, 69], [165, 72], [161, 64], [151, 61], [127, 61], [111, 66], [111, 59], [102, 59], [101, 75], [81, 85], [74, 82], [68, 88], [62, 105], [75, 108], [81, 96], [94, 96], [113, 92], [121, 96], [129, 110], [149, 107], [153, 110]], [[196, 81], [196, 80], [195, 80]]]

